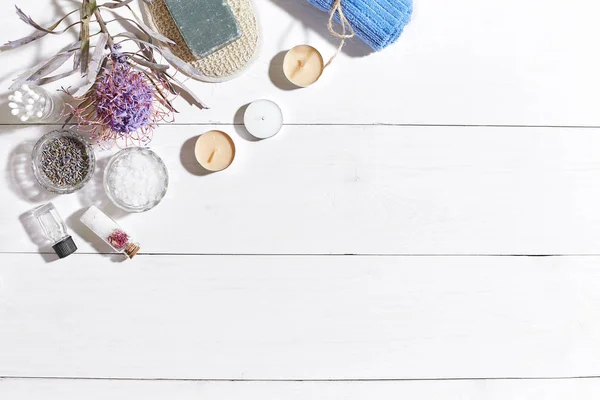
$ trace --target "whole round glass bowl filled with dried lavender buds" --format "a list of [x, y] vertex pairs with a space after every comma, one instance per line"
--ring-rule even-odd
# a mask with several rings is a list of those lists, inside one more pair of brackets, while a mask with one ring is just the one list
[[31, 162], [39, 184], [57, 194], [81, 189], [96, 168], [94, 150], [73, 130], [55, 130], [42, 136], [33, 147]]

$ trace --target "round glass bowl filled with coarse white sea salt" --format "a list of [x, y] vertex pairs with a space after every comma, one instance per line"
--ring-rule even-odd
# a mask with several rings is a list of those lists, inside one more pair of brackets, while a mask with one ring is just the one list
[[104, 170], [108, 198], [127, 212], [144, 212], [165, 197], [169, 173], [163, 160], [152, 150], [132, 147], [115, 154]]

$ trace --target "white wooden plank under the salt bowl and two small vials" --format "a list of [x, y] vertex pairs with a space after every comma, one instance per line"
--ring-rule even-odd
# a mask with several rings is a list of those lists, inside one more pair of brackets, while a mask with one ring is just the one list
[[[600, 253], [595, 129], [287, 126], [256, 143], [221, 128], [238, 156], [208, 176], [197, 175], [192, 153], [208, 127], [156, 132], [171, 182], [148, 213], [107, 208], [101, 173], [80, 193], [54, 198], [81, 251], [110, 250], [78, 223], [95, 203], [147, 253]], [[19, 216], [48, 199], [28, 157], [49, 129], [0, 129], [2, 252], [38, 251]]]

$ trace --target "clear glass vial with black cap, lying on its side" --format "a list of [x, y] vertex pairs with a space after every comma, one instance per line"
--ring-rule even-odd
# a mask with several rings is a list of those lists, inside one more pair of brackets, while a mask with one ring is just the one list
[[52, 242], [52, 250], [59, 258], [65, 258], [77, 251], [73, 238], [67, 233], [65, 221], [52, 203], [33, 210], [33, 216], [42, 227], [46, 238]]

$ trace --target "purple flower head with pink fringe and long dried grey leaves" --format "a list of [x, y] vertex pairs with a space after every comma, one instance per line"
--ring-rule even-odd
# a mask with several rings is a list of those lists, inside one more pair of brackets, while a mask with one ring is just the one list
[[[200, 72], [175, 56], [166, 46], [157, 46], [152, 41], [172, 44], [173, 41], [146, 26], [131, 9], [134, 0], [112, 0], [97, 4], [96, 0], [82, 0], [81, 7], [68, 12], [54, 24], [42, 27], [16, 7], [19, 18], [36, 31], [24, 38], [9, 41], [0, 50], [17, 48], [32, 43], [47, 35], [60, 35], [79, 27], [79, 40], [62, 49], [56, 55], [19, 75], [11, 89], [23, 84], [44, 85], [73, 75], [77, 72], [86, 78], [86, 84], [72, 93], [80, 100], [71, 106], [71, 116], [80, 125], [90, 127], [96, 137], [105, 143], [125, 138], [145, 143], [150, 138], [157, 122], [176, 112], [170, 98], [181, 92], [188, 94], [190, 102], [199, 108], [206, 106], [173, 74], [169, 66], [159, 63], [161, 56], [177, 69], [190, 74]], [[138, 0], [151, 3], [151, 0]], [[116, 10], [127, 8], [133, 19], [117, 15], [105, 20], [102, 12], [116, 14]], [[79, 12], [79, 20], [60, 29], [68, 17]], [[127, 23], [130, 31], [112, 35], [108, 24]], [[99, 31], [91, 33], [91, 26]], [[122, 51], [124, 43], [133, 50]], [[68, 60], [73, 59], [73, 68], [55, 73]], [[69, 93], [71, 94], [71, 93]], [[112, 96], [112, 97], [111, 97]], [[109, 98], [118, 99], [110, 104]]]

